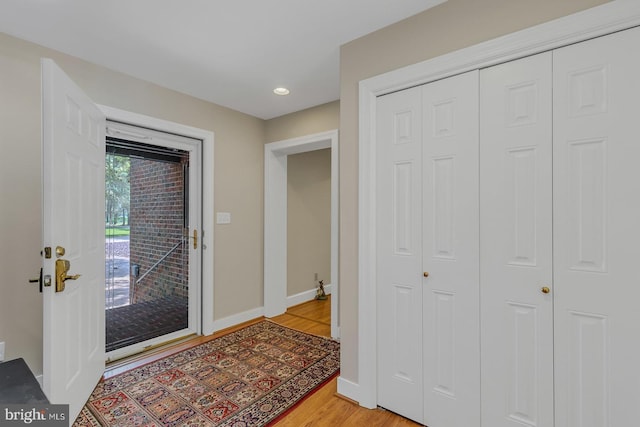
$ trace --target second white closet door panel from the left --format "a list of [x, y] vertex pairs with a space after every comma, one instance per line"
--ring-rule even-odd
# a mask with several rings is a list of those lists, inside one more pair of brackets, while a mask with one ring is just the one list
[[422, 100], [424, 424], [478, 426], [478, 71]]

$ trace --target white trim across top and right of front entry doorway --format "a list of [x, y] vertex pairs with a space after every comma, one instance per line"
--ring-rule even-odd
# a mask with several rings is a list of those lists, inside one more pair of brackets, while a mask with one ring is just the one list
[[[107, 116], [107, 120], [118, 121], [134, 126], [146, 127], [163, 132], [184, 135], [202, 140], [202, 286], [198, 289], [201, 310], [196, 321], [196, 332], [211, 335], [213, 325], [213, 289], [214, 289], [214, 253], [213, 253], [213, 168], [214, 133], [205, 129], [182, 125], [143, 114], [132, 113], [119, 108], [98, 105]], [[208, 262], [205, 262], [205, 255]], [[205, 303], [207, 301], [208, 303]]]

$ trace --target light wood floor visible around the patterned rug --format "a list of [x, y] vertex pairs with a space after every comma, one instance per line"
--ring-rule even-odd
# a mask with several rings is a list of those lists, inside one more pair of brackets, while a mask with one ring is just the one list
[[[225, 335], [243, 326], [258, 322], [255, 319], [250, 322], [225, 329], [208, 337], [197, 337], [187, 342], [177, 344], [169, 349], [156, 350], [151, 354], [129, 359], [125, 362], [110, 365], [105, 372], [105, 378], [119, 374], [129, 369], [136, 368], [145, 363], [152, 362], [169, 354], [182, 351], [186, 348], [209, 341], [212, 338]], [[285, 314], [271, 318], [270, 320], [299, 331], [315, 335], [331, 335], [331, 300], [309, 301], [304, 304], [290, 307]], [[305, 427], [305, 426], [384, 426], [384, 427], [410, 427], [419, 426], [413, 421], [400, 417], [383, 409], [365, 409], [356, 403], [337, 395], [337, 379], [333, 379], [282, 420], [274, 424], [275, 427]]]

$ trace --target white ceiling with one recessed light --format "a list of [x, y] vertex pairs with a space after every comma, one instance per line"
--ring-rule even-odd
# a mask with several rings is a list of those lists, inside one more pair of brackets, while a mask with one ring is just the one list
[[0, 1], [0, 32], [269, 119], [338, 99], [340, 45], [446, 0]]

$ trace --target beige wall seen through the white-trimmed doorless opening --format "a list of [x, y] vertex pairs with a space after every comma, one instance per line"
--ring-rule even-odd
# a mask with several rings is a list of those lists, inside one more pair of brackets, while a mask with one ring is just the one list
[[287, 157], [287, 296], [331, 283], [331, 149]]

